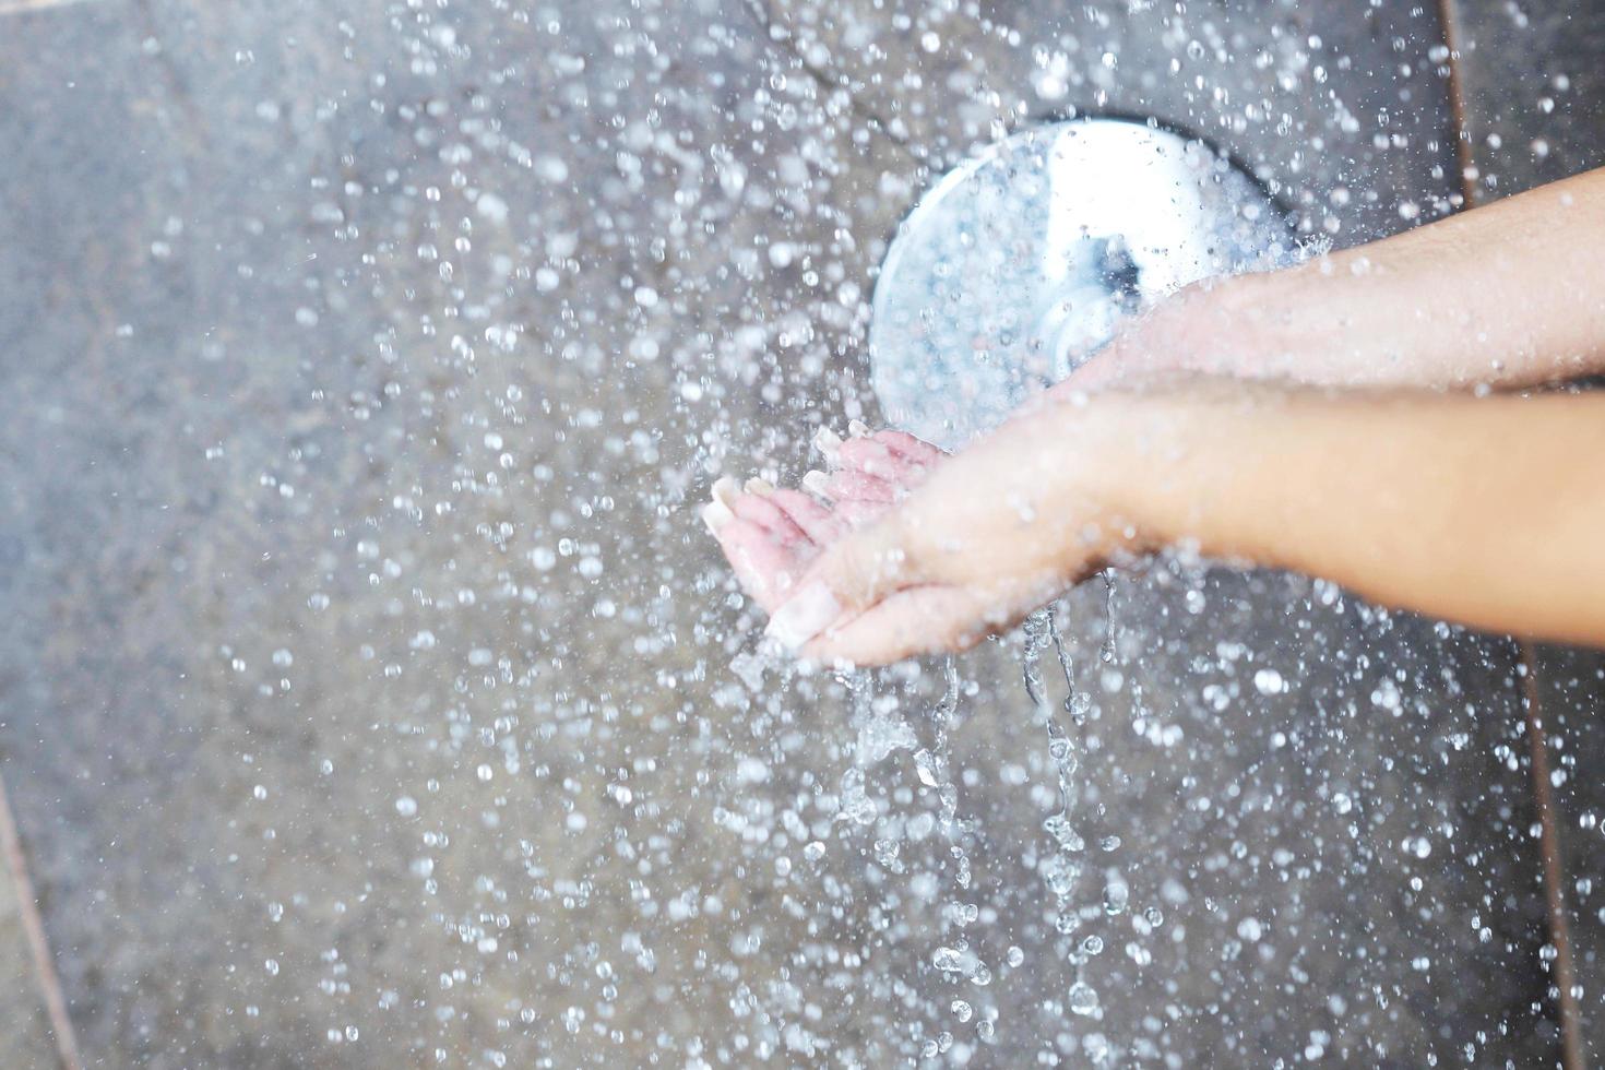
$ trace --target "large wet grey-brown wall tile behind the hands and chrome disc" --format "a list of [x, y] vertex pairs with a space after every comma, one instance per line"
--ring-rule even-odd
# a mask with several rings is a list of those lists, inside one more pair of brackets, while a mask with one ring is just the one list
[[[884, 239], [993, 124], [1152, 112], [1351, 242], [1448, 207], [1436, 40], [1290, 5], [8, 21], [0, 748], [87, 1059], [1549, 1059], [1499, 643], [1159, 571], [1103, 666], [1072, 595], [1083, 1015], [1008, 651], [963, 663], [952, 892], [897, 709], [740, 683], [754, 614], [684, 507], [873, 415]], [[939, 674], [896, 675], [929, 743]], [[960, 930], [990, 985], [931, 967]]]

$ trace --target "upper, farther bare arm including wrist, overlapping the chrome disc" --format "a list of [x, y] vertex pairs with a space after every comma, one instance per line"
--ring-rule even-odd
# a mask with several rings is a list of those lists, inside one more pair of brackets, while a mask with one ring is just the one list
[[1156, 372], [1528, 387], [1605, 371], [1605, 170], [1310, 263], [1189, 287], [1059, 390]]

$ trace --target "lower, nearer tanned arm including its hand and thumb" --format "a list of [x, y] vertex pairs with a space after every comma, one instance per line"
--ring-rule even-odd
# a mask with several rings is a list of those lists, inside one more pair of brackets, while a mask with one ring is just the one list
[[1193, 545], [1477, 627], [1605, 645], [1605, 398], [1221, 390], [1027, 412], [831, 545], [770, 634], [969, 645], [1124, 553]]

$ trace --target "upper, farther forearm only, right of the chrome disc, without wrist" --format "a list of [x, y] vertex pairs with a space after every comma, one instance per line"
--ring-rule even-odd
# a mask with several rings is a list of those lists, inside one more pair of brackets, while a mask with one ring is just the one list
[[1597, 372], [1605, 366], [1605, 172], [1266, 282], [1273, 353], [1292, 369], [1311, 348], [1319, 382], [1522, 387]]

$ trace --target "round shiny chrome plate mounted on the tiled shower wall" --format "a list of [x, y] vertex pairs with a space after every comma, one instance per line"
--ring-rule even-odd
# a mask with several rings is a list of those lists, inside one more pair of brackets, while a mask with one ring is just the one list
[[1282, 210], [1201, 141], [1124, 119], [1035, 127], [944, 175], [899, 226], [875, 287], [875, 393], [889, 424], [952, 449], [1122, 316], [1294, 253]]

